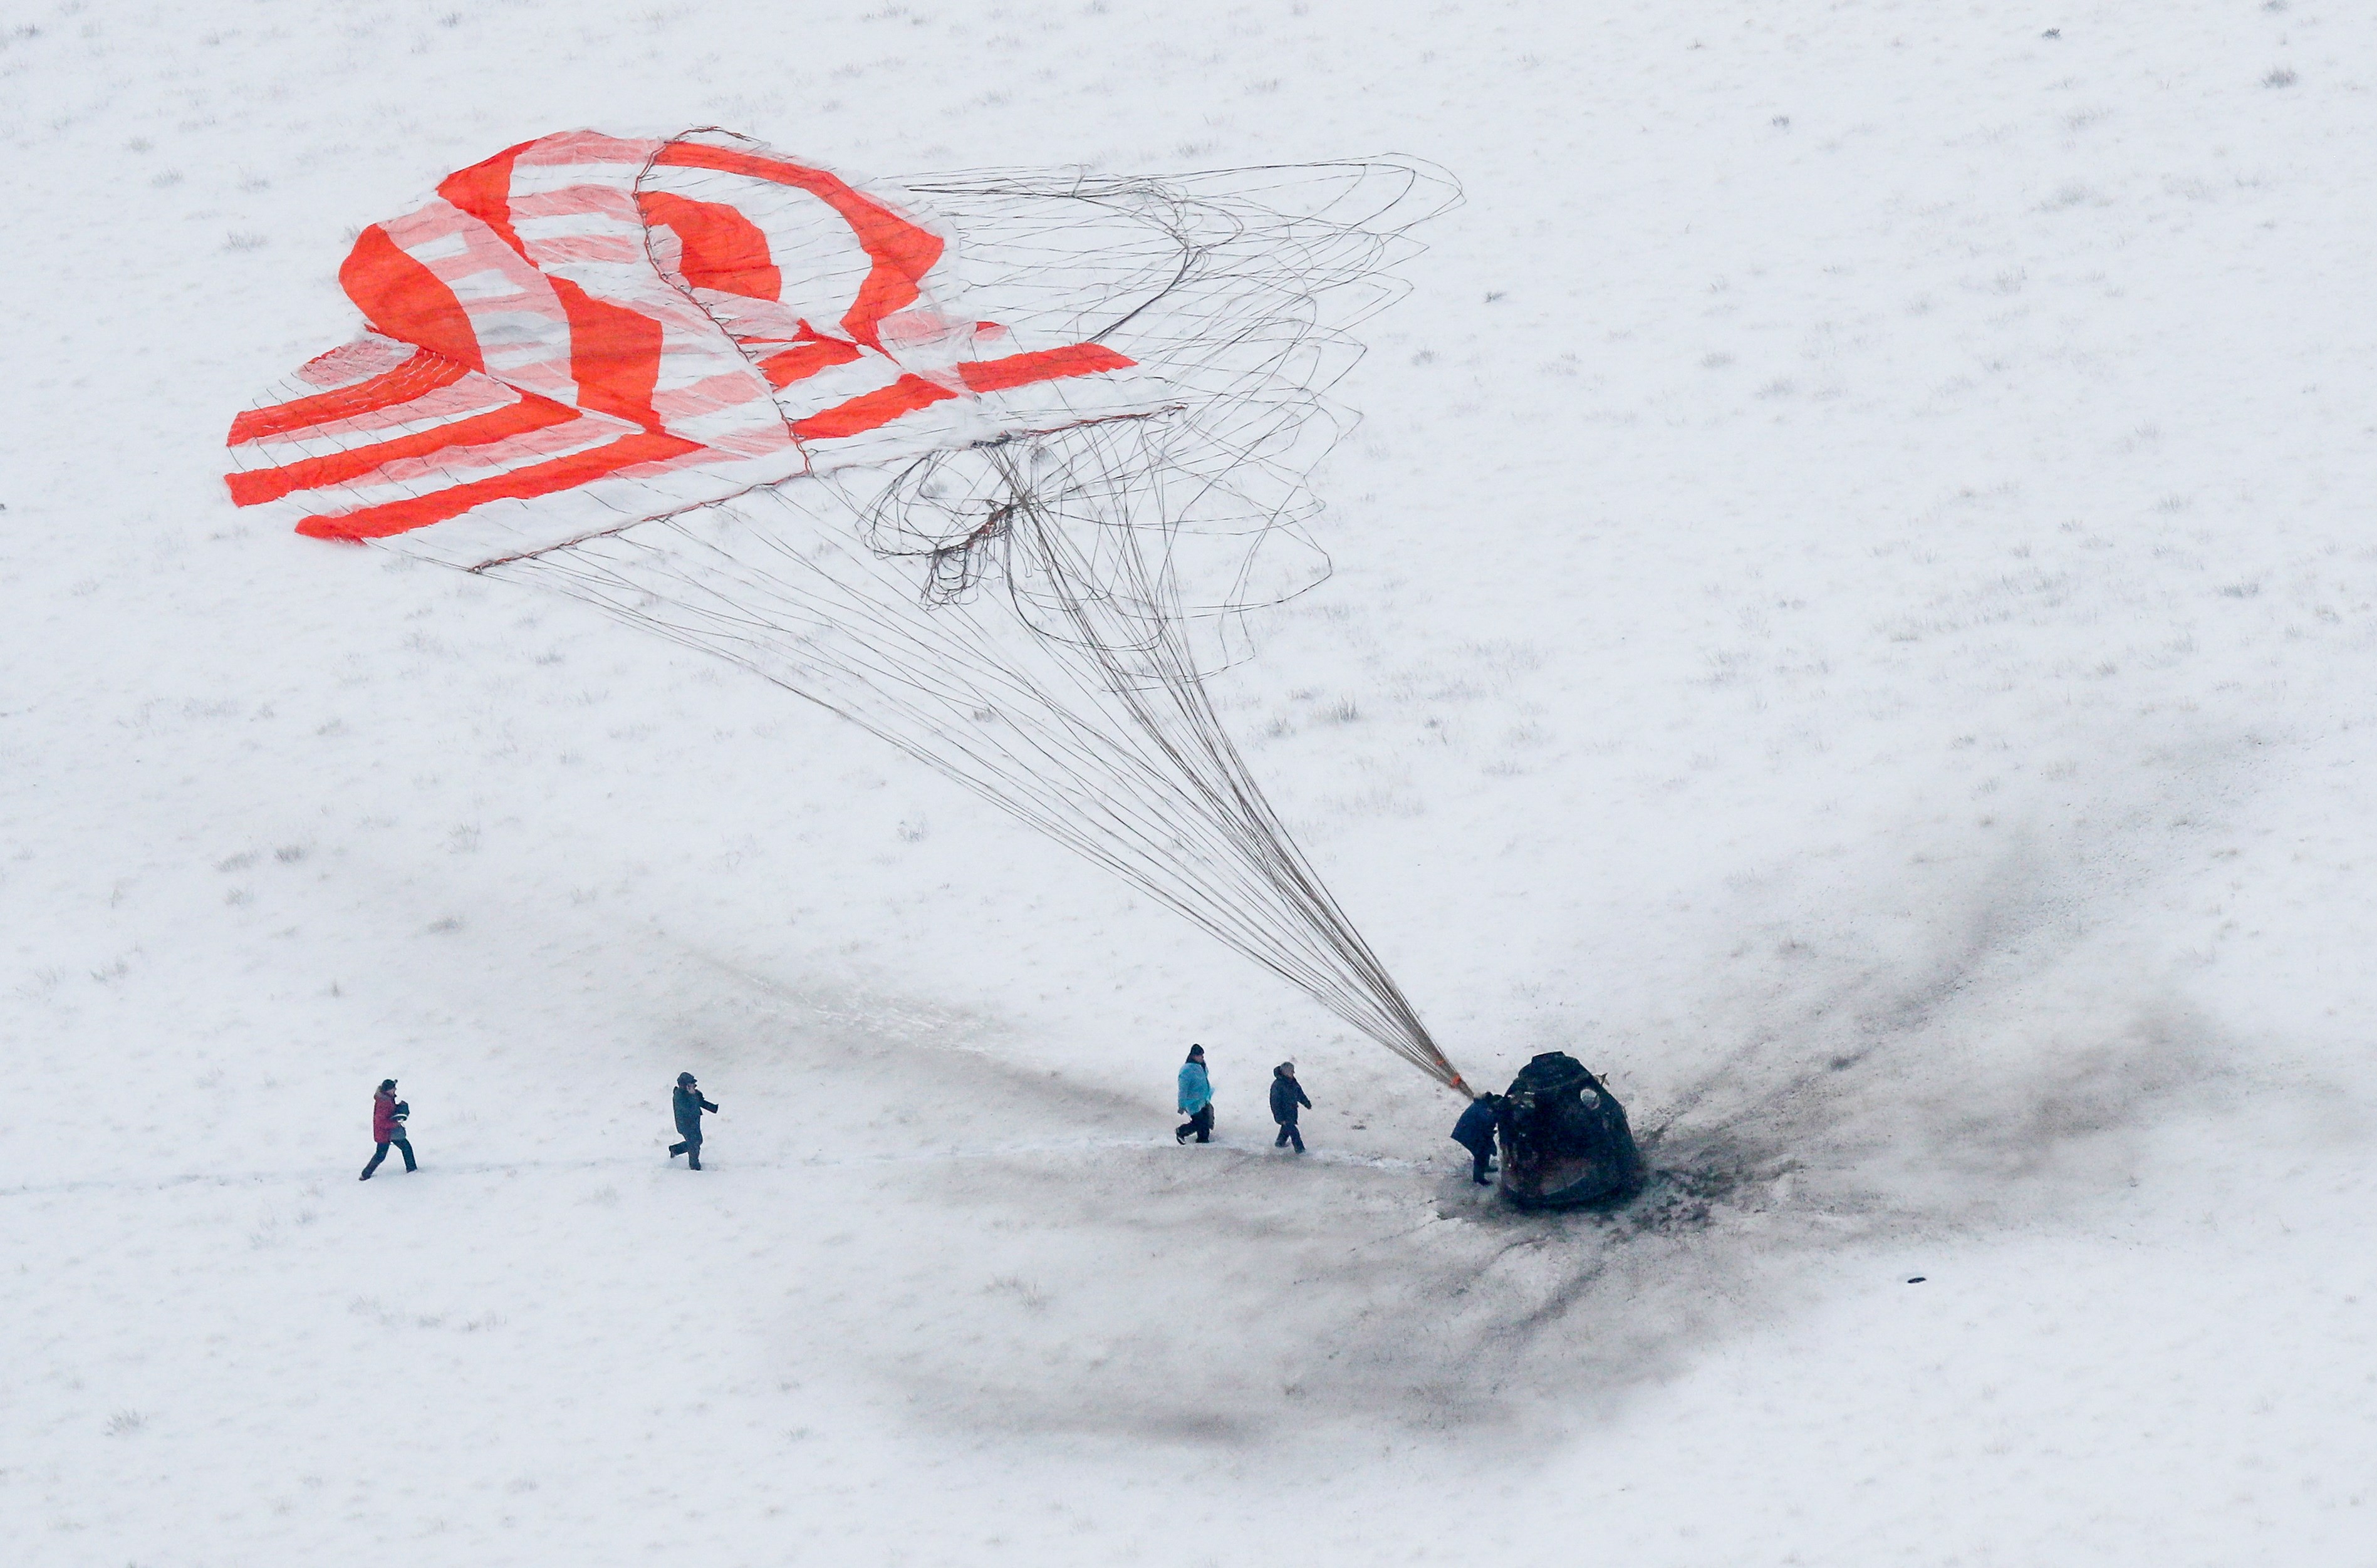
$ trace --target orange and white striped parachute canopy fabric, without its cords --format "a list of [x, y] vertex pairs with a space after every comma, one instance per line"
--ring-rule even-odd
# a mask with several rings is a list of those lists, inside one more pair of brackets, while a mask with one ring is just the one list
[[364, 230], [340, 283], [371, 330], [233, 423], [231, 497], [292, 501], [326, 539], [435, 527], [409, 549], [478, 565], [1162, 404], [1110, 347], [977, 321], [953, 249], [718, 131], [523, 143]]

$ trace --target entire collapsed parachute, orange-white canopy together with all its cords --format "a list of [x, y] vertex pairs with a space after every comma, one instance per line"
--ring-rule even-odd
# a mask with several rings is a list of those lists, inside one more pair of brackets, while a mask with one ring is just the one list
[[233, 421], [231, 494], [756, 670], [1459, 1088], [1203, 687], [1326, 575], [1322, 390], [1414, 192], [547, 135], [364, 230], [368, 330]]

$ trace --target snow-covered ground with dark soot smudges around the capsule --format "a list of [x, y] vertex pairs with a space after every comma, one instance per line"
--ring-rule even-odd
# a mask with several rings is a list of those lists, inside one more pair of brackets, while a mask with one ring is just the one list
[[[2377, 1561], [2377, 12], [0, 33], [0, 1558]], [[1697, 1200], [1512, 1216], [856, 727], [231, 508], [359, 226], [699, 124], [1462, 181], [1217, 698], [1455, 1062], [1578, 1052]]]

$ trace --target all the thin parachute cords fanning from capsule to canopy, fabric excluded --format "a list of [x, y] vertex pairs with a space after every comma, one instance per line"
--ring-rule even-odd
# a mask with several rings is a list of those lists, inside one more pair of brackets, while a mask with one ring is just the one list
[[1443, 192], [1402, 164], [1179, 181], [908, 183], [967, 309], [1098, 342], [1153, 413], [846, 468], [487, 565], [592, 601], [891, 741], [1108, 867], [1452, 1088], [1459, 1074], [1288, 834], [1205, 675], [1326, 575], [1305, 475], [1383, 259]]

